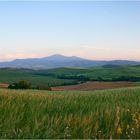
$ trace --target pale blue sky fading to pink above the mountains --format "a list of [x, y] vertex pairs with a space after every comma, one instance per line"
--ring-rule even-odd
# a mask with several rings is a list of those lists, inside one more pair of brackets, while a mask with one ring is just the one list
[[0, 1], [0, 61], [52, 54], [140, 61], [140, 1]]

